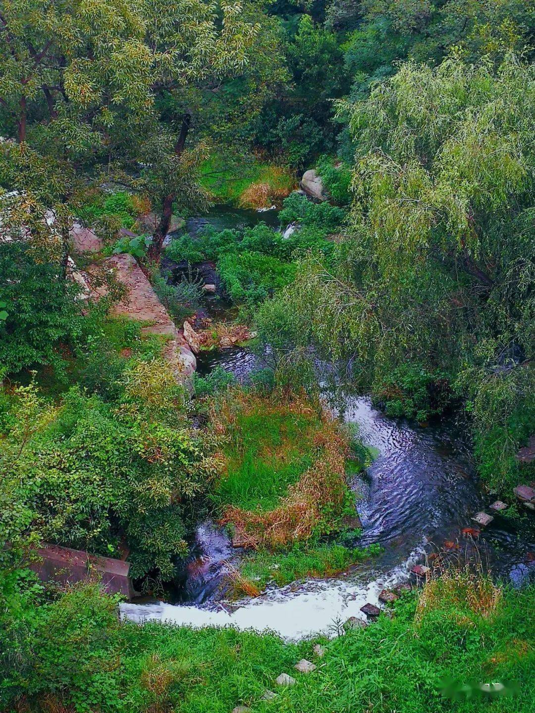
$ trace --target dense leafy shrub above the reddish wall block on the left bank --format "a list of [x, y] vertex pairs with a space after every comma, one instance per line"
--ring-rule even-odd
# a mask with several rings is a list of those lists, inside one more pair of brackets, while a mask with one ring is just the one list
[[114, 555], [134, 577], [169, 577], [187, 551], [184, 507], [215, 473], [210, 440], [182, 420], [161, 361], [131, 361], [114, 403], [73, 387], [57, 406], [19, 387], [4, 402], [2, 546], [48, 542]]

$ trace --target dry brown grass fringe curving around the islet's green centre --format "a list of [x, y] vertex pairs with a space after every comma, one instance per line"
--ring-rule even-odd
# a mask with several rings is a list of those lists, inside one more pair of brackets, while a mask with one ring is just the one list
[[[304, 396], [277, 394], [273, 397], [238, 396], [241, 409], [258, 408], [259, 399], [266, 417], [280, 413], [281, 409], [295, 414], [308, 414], [317, 418], [315, 409]], [[249, 400], [249, 403], [248, 403]], [[235, 418], [234, 406], [225, 402], [217, 419], [217, 429], [228, 434]], [[350, 456], [348, 438], [341, 431], [332, 414], [324, 407], [316, 432], [313, 448], [316, 460], [299, 480], [289, 486], [279, 507], [271, 511], [244, 510], [235, 506], [225, 508], [222, 523], [234, 526], [233, 543], [252, 549], [279, 548], [296, 540], [308, 539], [321, 520], [321, 508], [330, 505], [333, 515], [341, 513], [346, 495], [346, 460]]]

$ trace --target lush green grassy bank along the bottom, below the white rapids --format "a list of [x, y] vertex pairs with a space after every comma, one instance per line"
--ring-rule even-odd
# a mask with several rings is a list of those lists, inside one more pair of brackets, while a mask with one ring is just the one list
[[[192, 630], [157, 623], [120, 625], [115, 602], [95, 588], [26, 613], [16, 638], [4, 629], [0, 708], [28, 710], [48, 694], [75, 713], [533, 713], [535, 588], [505, 590], [492, 616], [467, 612], [442, 595], [415, 622], [417, 599], [407, 593], [393, 619], [332, 641], [285, 645], [272, 634], [230, 628]], [[0, 627], [0, 631], [2, 631]], [[8, 643], [9, 642], [9, 643]], [[313, 644], [326, 654], [318, 660]], [[17, 655], [14, 655], [16, 647]], [[316, 662], [299, 674], [301, 657]], [[275, 678], [296, 678], [288, 688]], [[457, 684], [516, 682], [516, 695], [447, 697]], [[265, 689], [276, 691], [263, 701]], [[68, 706], [72, 706], [67, 708]]]

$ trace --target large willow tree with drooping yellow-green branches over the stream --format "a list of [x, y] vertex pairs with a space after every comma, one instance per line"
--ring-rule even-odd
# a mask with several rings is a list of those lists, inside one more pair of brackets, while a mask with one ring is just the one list
[[400, 415], [432, 412], [417, 401], [434, 389], [441, 407], [462, 395], [495, 441], [495, 483], [535, 428], [534, 80], [512, 55], [497, 70], [450, 56], [340, 105], [356, 145], [346, 238], [261, 315], [288, 354], [308, 341], [345, 358]]

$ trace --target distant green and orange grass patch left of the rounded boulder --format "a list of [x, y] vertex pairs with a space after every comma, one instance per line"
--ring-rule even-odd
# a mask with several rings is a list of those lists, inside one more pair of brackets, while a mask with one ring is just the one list
[[218, 203], [239, 205], [241, 194], [251, 183], [269, 183], [271, 188], [290, 193], [295, 181], [279, 167], [252, 157], [247, 162], [238, 162], [215, 154], [202, 165], [201, 185]]

